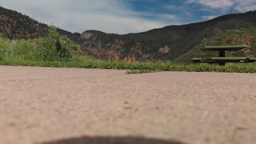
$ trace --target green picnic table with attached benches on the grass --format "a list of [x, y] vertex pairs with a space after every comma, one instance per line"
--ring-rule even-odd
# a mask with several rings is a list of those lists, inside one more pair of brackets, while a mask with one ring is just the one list
[[226, 63], [252, 63], [256, 58], [249, 57], [226, 57], [226, 51], [238, 51], [248, 47], [248, 45], [229, 45], [229, 46], [205, 46], [202, 51], [219, 51], [219, 57], [211, 57], [210, 59], [193, 58], [194, 63], [219, 63], [225, 65]]

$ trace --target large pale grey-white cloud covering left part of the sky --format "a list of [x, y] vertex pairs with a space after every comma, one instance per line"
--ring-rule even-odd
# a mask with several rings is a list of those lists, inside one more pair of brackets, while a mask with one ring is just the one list
[[[96, 29], [107, 33], [135, 33], [167, 25], [164, 20], [144, 19], [124, 0], [0, 0], [4, 8], [13, 9], [33, 19], [71, 32]], [[155, 14], [156, 17], [159, 14]], [[174, 16], [167, 16], [168, 19]]]

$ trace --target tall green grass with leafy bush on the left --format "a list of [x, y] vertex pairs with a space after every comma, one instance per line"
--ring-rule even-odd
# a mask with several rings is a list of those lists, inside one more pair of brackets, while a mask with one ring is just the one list
[[42, 39], [9, 40], [0, 37], [0, 61], [69, 61], [77, 55], [79, 45], [49, 27], [49, 34]]

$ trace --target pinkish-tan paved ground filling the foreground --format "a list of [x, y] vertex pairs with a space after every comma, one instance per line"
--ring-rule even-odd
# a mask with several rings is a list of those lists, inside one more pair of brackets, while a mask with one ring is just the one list
[[256, 74], [1, 66], [0, 143], [73, 140], [256, 143]]

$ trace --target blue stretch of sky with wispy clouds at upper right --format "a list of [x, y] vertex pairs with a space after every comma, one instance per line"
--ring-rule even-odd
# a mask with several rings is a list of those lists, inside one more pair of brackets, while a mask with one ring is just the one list
[[[231, 13], [243, 13], [256, 9], [256, 1], [187, 1], [187, 0], [130, 0], [131, 8], [142, 13], [170, 15], [166, 23], [191, 23], [212, 19]], [[243, 4], [242, 4], [243, 3]], [[219, 5], [219, 6], [218, 6]], [[244, 7], [245, 6], [245, 7]], [[172, 15], [172, 16], [171, 16]], [[143, 16], [158, 19], [158, 15]], [[168, 16], [167, 16], [168, 17]], [[171, 19], [173, 17], [173, 19]], [[175, 20], [175, 21], [173, 21]]]

